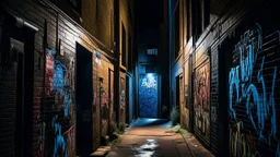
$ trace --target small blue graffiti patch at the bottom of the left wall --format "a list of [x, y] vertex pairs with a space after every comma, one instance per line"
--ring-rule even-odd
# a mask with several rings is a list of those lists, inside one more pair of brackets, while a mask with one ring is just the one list
[[63, 135], [61, 134], [61, 124], [56, 122], [57, 118], [58, 118], [58, 116], [55, 116], [52, 118], [52, 122], [51, 122], [51, 125], [55, 129], [55, 145], [54, 145], [52, 157], [56, 157], [61, 152], [66, 157], [68, 157], [68, 155], [67, 155], [67, 144], [65, 142]]

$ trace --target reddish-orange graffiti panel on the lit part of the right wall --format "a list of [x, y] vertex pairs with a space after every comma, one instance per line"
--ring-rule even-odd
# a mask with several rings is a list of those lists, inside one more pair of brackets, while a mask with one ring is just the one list
[[194, 80], [195, 129], [205, 137], [210, 136], [210, 64], [196, 70]]

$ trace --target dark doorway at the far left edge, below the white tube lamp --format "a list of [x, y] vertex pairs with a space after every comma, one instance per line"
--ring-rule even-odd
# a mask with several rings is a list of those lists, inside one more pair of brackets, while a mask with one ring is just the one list
[[[1, 12], [2, 13], [2, 12]], [[1, 14], [0, 23], [0, 152], [2, 156], [32, 156], [34, 35]], [[34, 27], [35, 28], [35, 27]]]

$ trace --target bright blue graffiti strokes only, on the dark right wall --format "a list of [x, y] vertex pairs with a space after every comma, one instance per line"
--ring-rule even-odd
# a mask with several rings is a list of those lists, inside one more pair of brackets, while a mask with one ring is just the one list
[[[253, 37], [257, 33], [257, 37]], [[237, 120], [236, 111], [233, 106], [245, 101], [246, 113], [249, 121], [258, 134], [260, 141], [268, 142], [270, 144], [271, 137], [277, 142], [277, 117], [276, 117], [276, 104], [275, 104], [275, 85], [277, 78], [277, 67], [273, 67], [273, 76], [271, 81], [271, 87], [266, 86], [266, 82], [262, 75], [262, 69], [265, 64], [265, 57], [262, 57], [261, 64], [257, 73], [257, 83], [253, 83], [253, 71], [257, 61], [257, 56], [261, 51], [262, 47], [262, 34], [261, 28], [257, 25], [257, 32], [248, 31], [242, 36], [241, 41], [236, 45], [236, 50], [240, 52], [240, 64], [232, 68], [229, 74], [230, 84], [230, 98], [229, 98], [229, 113]], [[257, 87], [256, 84], [261, 86]], [[267, 93], [267, 89], [270, 92]], [[235, 95], [234, 95], [235, 94]], [[270, 94], [270, 95], [268, 95]], [[235, 101], [233, 101], [233, 95]], [[253, 108], [257, 109], [256, 117], [257, 122], [253, 117]], [[271, 122], [270, 134], [265, 134], [266, 121]]]

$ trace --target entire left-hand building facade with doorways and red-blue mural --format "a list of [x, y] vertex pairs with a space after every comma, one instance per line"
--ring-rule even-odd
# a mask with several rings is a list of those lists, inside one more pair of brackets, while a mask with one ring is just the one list
[[89, 156], [112, 133], [109, 122], [126, 122], [133, 95], [122, 98], [130, 88], [119, 77], [130, 72], [133, 86], [135, 65], [120, 72], [119, 25], [126, 21], [122, 53], [132, 58], [128, 16], [133, 3], [125, 0], [1, 2], [1, 155]]

